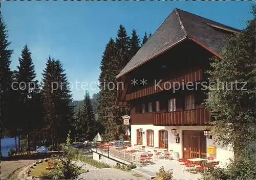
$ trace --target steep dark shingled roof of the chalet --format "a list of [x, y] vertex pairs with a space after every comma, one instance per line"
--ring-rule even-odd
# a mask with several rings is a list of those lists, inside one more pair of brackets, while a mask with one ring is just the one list
[[187, 38], [192, 38], [202, 46], [207, 47], [208, 50], [220, 54], [221, 48], [226, 45], [231, 32], [239, 31], [204, 17], [174, 9], [116, 78]]

